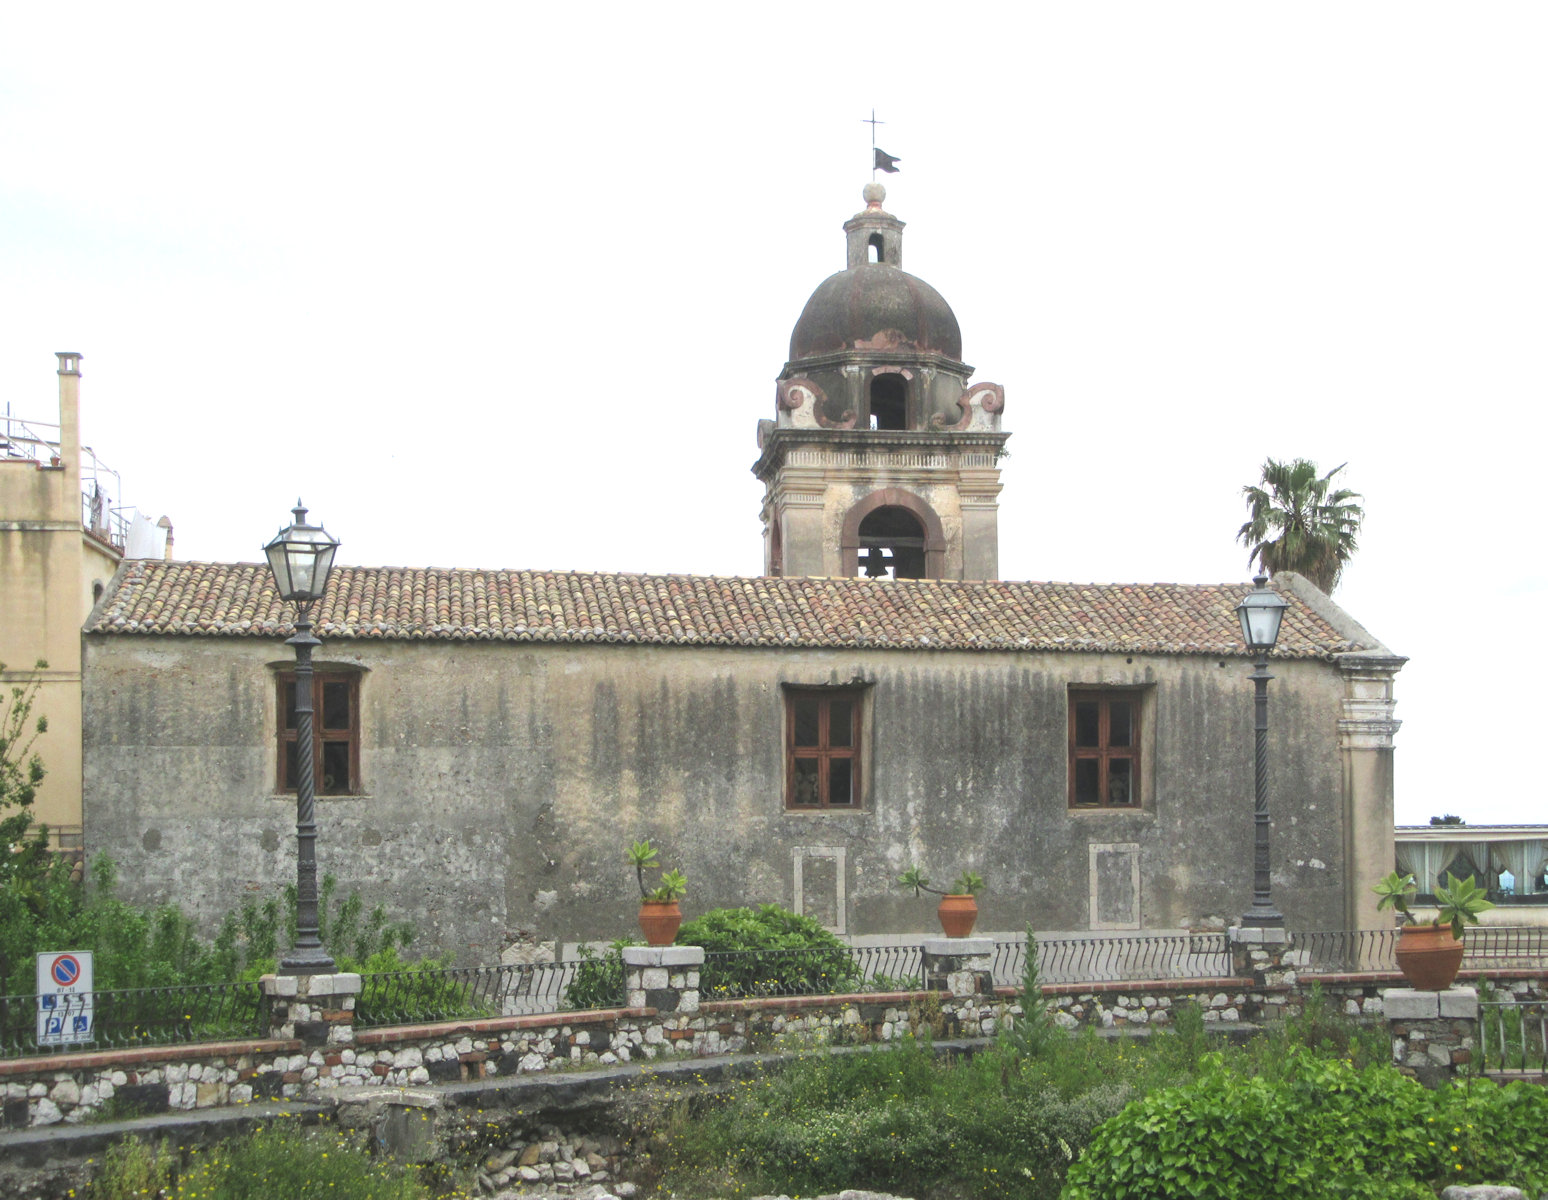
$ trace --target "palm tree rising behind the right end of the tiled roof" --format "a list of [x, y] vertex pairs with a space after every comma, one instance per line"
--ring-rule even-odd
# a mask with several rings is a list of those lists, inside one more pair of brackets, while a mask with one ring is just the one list
[[1251, 547], [1254, 559], [1268, 574], [1297, 571], [1324, 591], [1339, 585], [1344, 564], [1358, 550], [1354, 540], [1365, 509], [1359, 492], [1333, 489], [1333, 477], [1348, 463], [1319, 475], [1307, 458], [1263, 463], [1263, 486], [1246, 486], [1249, 520], [1237, 540]]

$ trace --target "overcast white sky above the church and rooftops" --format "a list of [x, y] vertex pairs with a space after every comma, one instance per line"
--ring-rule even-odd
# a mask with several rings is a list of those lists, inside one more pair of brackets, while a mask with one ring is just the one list
[[[1012, 430], [1006, 578], [1246, 579], [1348, 461], [1398, 818], [1543, 822], [1548, 6], [0, 5], [0, 407], [190, 559], [752, 574], [879, 144]], [[1243, 681], [1243, 703], [1249, 687]], [[1514, 753], [1508, 753], [1514, 748]]]

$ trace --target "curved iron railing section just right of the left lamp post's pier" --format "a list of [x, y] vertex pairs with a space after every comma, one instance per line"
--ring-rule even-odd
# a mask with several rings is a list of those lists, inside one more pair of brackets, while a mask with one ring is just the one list
[[[441, 966], [362, 975], [354, 1002], [356, 1028], [416, 1025], [435, 1020], [514, 1017], [557, 1013], [582, 963], [511, 963], [506, 966]], [[622, 1005], [622, 985], [598, 997], [599, 1005]], [[591, 1005], [585, 1005], [591, 1006]]]

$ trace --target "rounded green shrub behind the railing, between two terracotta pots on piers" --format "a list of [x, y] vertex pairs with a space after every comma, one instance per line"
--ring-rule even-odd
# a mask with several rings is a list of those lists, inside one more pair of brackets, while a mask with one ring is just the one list
[[700, 989], [706, 999], [738, 996], [831, 996], [858, 991], [859, 971], [848, 949], [810, 917], [763, 904], [711, 909], [684, 921], [680, 946], [703, 946]]

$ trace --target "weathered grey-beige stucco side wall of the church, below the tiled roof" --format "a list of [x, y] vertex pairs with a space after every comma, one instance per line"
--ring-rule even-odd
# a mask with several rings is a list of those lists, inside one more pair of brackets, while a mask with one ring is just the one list
[[[88, 849], [132, 895], [206, 920], [293, 879], [285, 647], [85, 641]], [[910, 859], [943, 883], [978, 870], [989, 931], [1197, 926], [1251, 903], [1243, 660], [344, 641], [317, 658], [364, 670], [364, 794], [319, 797], [322, 869], [464, 958], [630, 932], [622, 850], [647, 835], [687, 872], [689, 915], [777, 901], [850, 934], [933, 924], [892, 887]], [[1274, 670], [1276, 900], [1296, 927], [1341, 927], [1344, 681]], [[861, 811], [786, 813], [782, 686], [851, 681], [868, 686]], [[1141, 810], [1068, 810], [1071, 684], [1147, 689]]]

